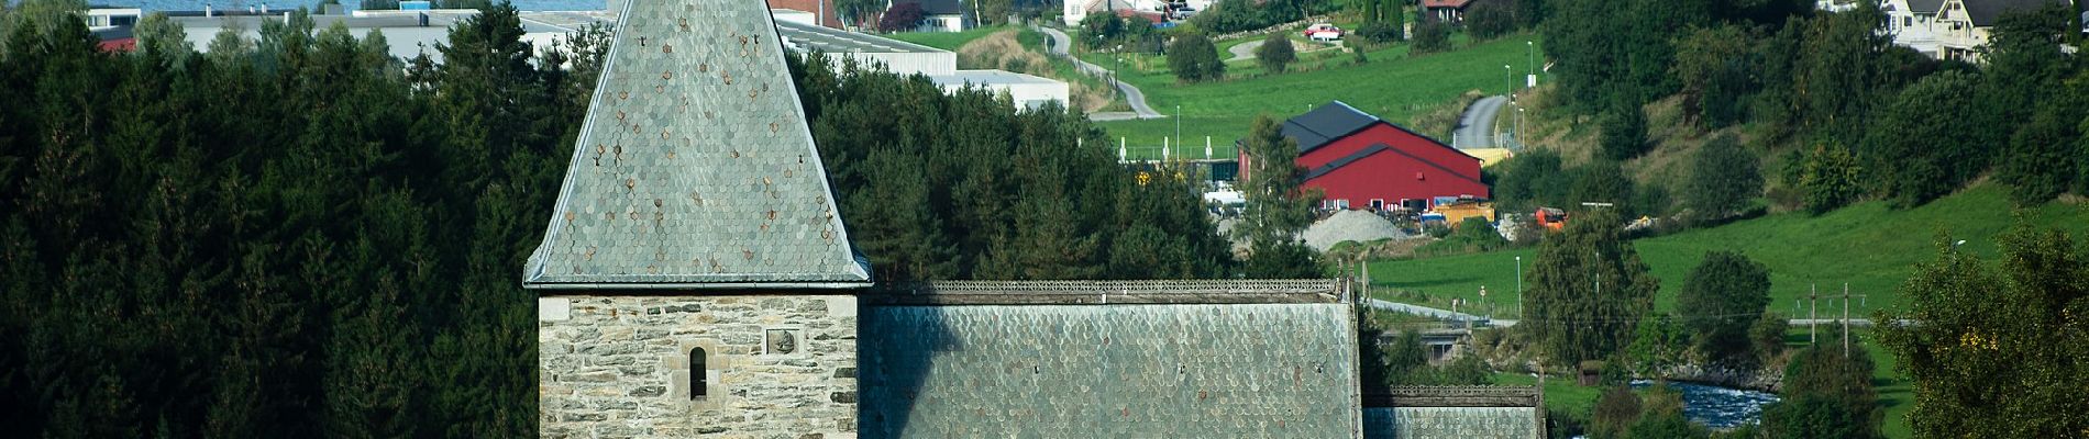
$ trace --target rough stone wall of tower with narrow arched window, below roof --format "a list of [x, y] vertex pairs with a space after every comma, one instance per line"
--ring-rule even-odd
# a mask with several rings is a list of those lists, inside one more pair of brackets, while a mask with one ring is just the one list
[[541, 298], [537, 343], [541, 437], [856, 437], [854, 295]]

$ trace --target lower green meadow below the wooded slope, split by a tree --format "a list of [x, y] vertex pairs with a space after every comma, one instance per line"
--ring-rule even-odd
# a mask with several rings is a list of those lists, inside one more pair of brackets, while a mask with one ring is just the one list
[[[1648, 237], [1634, 243], [1640, 258], [1661, 279], [1657, 308], [1675, 304], [1684, 277], [1711, 250], [1738, 250], [1769, 266], [1769, 310], [1792, 314], [1794, 300], [1817, 283], [1822, 293], [1840, 295], [1842, 283], [1863, 300], [1851, 300], [1851, 316], [1870, 316], [1874, 308], [1899, 304], [1895, 289], [1920, 260], [1937, 256], [1937, 233], [1966, 239], [1964, 250], [1995, 256], [1995, 235], [2014, 221], [2005, 187], [1976, 185], [1962, 193], [1911, 210], [1888, 210], [1884, 202], [1865, 202], [1822, 216], [1803, 212], [1771, 214], [1734, 225]], [[2039, 227], [2062, 227], [2076, 235], [2089, 233], [2089, 204], [2053, 202], [2022, 210]], [[1517, 262], [1535, 264], [1535, 250], [1510, 250], [1425, 260], [1379, 260], [1370, 266], [1372, 293], [1379, 298], [1446, 306], [1450, 298], [1479, 304], [1479, 287], [1502, 316], [1515, 314]], [[1414, 291], [1414, 293], [1393, 293]], [[1479, 308], [1485, 310], [1485, 308]], [[1840, 316], [1840, 304], [1822, 302], [1822, 314]], [[1799, 310], [1805, 316], [1805, 310]]]

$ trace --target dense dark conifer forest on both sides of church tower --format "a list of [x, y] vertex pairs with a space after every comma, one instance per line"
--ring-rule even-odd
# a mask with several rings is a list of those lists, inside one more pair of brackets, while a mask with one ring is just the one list
[[[512, 6], [428, 56], [295, 12], [98, 52], [0, 4], [0, 422], [25, 437], [531, 437], [539, 243], [608, 52]], [[1191, 179], [1086, 119], [792, 60], [877, 275], [1228, 277]]]

